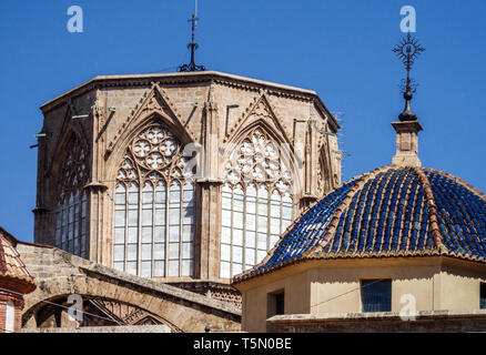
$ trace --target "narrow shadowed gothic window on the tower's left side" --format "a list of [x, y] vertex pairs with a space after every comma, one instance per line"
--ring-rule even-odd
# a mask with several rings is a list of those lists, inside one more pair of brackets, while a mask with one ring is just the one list
[[71, 254], [87, 257], [88, 154], [74, 134], [68, 142], [61, 166], [59, 197], [55, 207], [54, 245]]

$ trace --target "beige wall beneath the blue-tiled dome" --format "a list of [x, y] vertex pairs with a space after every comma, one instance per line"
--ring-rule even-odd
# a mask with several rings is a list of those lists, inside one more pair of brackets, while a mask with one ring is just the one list
[[443, 257], [291, 265], [235, 285], [244, 297], [242, 328], [264, 332], [267, 295], [276, 290], [285, 292], [285, 314], [360, 313], [360, 281], [373, 278], [392, 278], [392, 312], [413, 306], [411, 300], [416, 311], [470, 311], [479, 308], [486, 265]]

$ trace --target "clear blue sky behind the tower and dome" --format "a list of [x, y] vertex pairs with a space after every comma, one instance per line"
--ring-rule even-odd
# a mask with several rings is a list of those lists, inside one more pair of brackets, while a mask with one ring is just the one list
[[[67, 10], [84, 11], [69, 33]], [[344, 180], [391, 163], [403, 109], [402, 6], [427, 48], [413, 75], [425, 166], [486, 191], [486, 1], [200, 0], [196, 61], [313, 89], [344, 116]], [[0, 1], [0, 225], [32, 241], [40, 104], [99, 74], [174, 71], [189, 60], [193, 0]]]

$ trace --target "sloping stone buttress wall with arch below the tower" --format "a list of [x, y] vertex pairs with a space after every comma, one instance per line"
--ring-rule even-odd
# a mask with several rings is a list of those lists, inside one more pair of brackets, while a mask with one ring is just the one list
[[130, 305], [173, 332], [204, 332], [206, 325], [224, 331], [241, 328], [241, 310], [234, 304], [119, 272], [55, 247], [19, 243], [17, 248], [38, 285], [26, 296], [26, 328], [53, 326], [54, 322], [38, 324], [40, 312], [71, 294], [84, 301]]

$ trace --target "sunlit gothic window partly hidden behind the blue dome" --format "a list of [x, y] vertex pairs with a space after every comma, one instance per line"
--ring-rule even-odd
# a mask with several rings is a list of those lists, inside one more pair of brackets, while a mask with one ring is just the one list
[[222, 191], [221, 277], [265, 257], [292, 221], [291, 173], [260, 128], [234, 150]]

